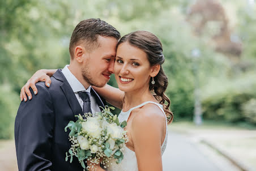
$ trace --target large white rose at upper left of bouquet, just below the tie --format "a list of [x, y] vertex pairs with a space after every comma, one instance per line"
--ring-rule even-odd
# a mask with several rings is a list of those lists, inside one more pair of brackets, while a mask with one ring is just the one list
[[82, 123], [83, 130], [88, 133], [88, 135], [94, 138], [99, 138], [101, 134], [101, 127], [99, 122], [99, 117], [88, 117], [86, 122]]

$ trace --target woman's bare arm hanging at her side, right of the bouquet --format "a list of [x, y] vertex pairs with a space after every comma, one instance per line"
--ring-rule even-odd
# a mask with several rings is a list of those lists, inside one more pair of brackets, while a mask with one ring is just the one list
[[161, 137], [165, 128], [164, 116], [155, 109], [140, 109], [131, 123], [131, 139], [139, 171], [163, 170]]

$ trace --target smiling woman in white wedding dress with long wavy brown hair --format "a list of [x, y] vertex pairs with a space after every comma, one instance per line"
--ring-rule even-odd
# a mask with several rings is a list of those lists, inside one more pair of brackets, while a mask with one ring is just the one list
[[[146, 31], [129, 33], [117, 45], [114, 74], [119, 89], [109, 85], [93, 87], [109, 104], [122, 109], [120, 122], [127, 121], [129, 142], [123, 151], [123, 161], [110, 161], [108, 170], [163, 170], [161, 155], [167, 146], [167, 124], [173, 120], [170, 100], [164, 93], [168, 79], [163, 63], [163, 48], [155, 35]], [[31, 79], [49, 83], [48, 75], [55, 71], [39, 70]], [[28, 91], [31, 79], [22, 88], [21, 99], [27, 98], [25, 92], [32, 97]], [[31, 87], [37, 92], [34, 83]]]

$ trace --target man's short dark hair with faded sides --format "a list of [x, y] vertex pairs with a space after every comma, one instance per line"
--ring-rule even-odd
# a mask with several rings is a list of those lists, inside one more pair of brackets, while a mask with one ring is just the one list
[[82, 20], [76, 25], [70, 39], [69, 53], [71, 59], [74, 58], [74, 47], [81, 41], [84, 41], [84, 46], [89, 51], [99, 47], [98, 36], [114, 37], [117, 40], [121, 38], [120, 32], [116, 28], [101, 19]]

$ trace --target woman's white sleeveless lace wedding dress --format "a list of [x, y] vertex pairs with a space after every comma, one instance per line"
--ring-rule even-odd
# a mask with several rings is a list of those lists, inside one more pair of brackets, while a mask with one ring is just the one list
[[[163, 105], [157, 104], [156, 102], [153, 101], [146, 101], [143, 102], [143, 104], [140, 104], [138, 106], [135, 106], [134, 108], [129, 109], [127, 112], [121, 111], [121, 113], [118, 116], [118, 119], [120, 122], [127, 121], [127, 119], [130, 116], [130, 113], [133, 109], [140, 108], [148, 103], [156, 104], [159, 106], [159, 108], [163, 111]], [[164, 115], [165, 116], [165, 115]], [[164, 143], [161, 146], [161, 154], [163, 155], [165, 147], [167, 146], [167, 119], [165, 116], [166, 120], [166, 134], [165, 134], [165, 139]], [[136, 155], [134, 151], [131, 151], [131, 149], [125, 147], [125, 151], [123, 151], [123, 160], [121, 161], [120, 164], [116, 164], [116, 159], [110, 161], [110, 165], [107, 168], [108, 171], [138, 171], [138, 164], [136, 160]]]

